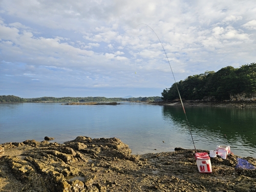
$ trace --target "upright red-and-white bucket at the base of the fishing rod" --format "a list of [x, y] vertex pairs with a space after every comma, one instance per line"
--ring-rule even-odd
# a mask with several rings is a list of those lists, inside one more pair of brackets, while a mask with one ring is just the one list
[[211, 173], [211, 163], [208, 153], [196, 153], [195, 158], [200, 173]]

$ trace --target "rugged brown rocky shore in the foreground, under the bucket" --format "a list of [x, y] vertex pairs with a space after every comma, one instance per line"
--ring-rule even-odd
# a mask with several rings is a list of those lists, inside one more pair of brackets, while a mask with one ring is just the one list
[[193, 150], [131, 155], [117, 138], [26, 140], [1, 144], [0, 152], [2, 192], [256, 191], [256, 169], [236, 168], [235, 155], [211, 158], [212, 173], [201, 174]]

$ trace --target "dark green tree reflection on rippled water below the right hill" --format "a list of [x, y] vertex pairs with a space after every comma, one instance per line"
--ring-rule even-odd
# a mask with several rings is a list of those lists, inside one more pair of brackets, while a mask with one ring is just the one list
[[[197, 148], [214, 150], [217, 144], [228, 144], [241, 156], [243, 151], [256, 156], [256, 109], [187, 106], [186, 114]], [[188, 130], [181, 106], [164, 106], [163, 118]]]

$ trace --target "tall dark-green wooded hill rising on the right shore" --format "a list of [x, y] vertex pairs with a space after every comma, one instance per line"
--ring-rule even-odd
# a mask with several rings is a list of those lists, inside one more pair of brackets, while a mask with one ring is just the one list
[[256, 97], [256, 63], [240, 68], [225, 67], [221, 70], [206, 71], [174, 83], [171, 88], [163, 90], [162, 99], [179, 98], [177, 86], [182, 99], [187, 100], [245, 100]]

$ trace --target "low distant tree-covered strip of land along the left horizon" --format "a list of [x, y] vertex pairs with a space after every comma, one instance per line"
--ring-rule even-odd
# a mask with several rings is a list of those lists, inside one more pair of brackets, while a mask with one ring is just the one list
[[106, 98], [106, 97], [39, 97], [20, 98], [13, 95], [0, 96], [0, 102], [100, 102], [100, 101], [161, 101], [161, 97], [132, 97], [132, 98]]

